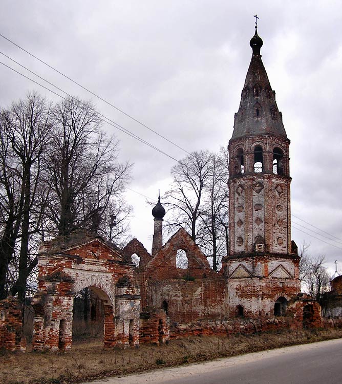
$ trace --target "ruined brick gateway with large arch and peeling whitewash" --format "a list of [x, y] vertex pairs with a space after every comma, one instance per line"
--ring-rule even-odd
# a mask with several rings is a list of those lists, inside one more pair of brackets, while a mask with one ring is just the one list
[[76, 232], [40, 248], [34, 349], [71, 348], [74, 297], [84, 288], [96, 292], [103, 303], [104, 346], [139, 344], [140, 292], [134, 264], [100, 236]]

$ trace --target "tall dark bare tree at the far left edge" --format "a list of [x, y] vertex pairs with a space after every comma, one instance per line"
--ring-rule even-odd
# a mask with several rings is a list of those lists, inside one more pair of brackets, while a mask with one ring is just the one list
[[[41, 190], [40, 174], [52, 125], [50, 104], [36, 93], [29, 94], [25, 100], [2, 111], [1, 124], [1, 200], [6, 217], [2, 218], [0, 295], [6, 295], [4, 277], [16, 258], [16, 268], [11, 271], [14, 280], [11, 294], [23, 300], [28, 276], [36, 265], [36, 258], [30, 258], [29, 239], [39, 230], [48, 195], [47, 190]], [[39, 194], [44, 202], [37, 204]], [[18, 256], [14, 248], [17, 241], [20, 242]]]

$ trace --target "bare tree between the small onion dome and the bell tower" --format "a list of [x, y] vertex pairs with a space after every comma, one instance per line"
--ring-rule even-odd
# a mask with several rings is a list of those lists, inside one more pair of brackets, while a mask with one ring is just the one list
[[194, 152], [172, 168], [164, 196], [169, 232], [184, 227], [217, 270], [228, 244], [227, 154]]

